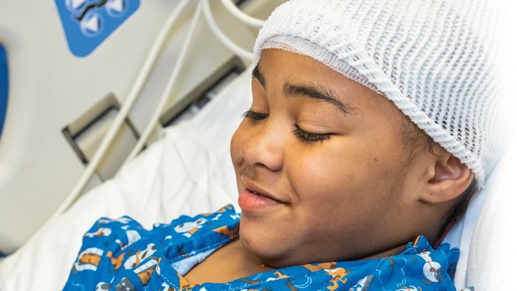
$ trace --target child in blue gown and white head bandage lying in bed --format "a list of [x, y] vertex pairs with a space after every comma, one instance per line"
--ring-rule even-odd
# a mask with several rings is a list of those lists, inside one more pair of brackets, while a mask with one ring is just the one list
[[459, 250], [439, 243], [498, 155], [468, 5], [277, 8], [231, 144], [242, 213], [101, 219], [65, 289], [453, 290]]

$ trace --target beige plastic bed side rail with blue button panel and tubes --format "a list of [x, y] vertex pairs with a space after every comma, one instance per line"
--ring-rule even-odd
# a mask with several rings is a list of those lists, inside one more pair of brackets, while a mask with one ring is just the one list
[[[261, 19], [282, 2], [3, 3], [9, 98], [0, 137], [0, 219], [9, 223], [0, 226], [0, 252], [12, 253], [114, 177], [161, 128], [188, 119], [240, 74], [252, 63]], [[70, 40], [72, 28], [95, 39], [96, 29], [113, 23], [86, 55]]]

